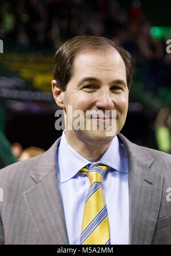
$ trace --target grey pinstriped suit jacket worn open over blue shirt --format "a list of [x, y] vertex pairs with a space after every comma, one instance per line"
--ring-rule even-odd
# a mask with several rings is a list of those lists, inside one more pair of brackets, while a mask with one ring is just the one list
[[[119, 137], [128, 153], [129, 243], [171, 244], [171, 156]], [[59, 141], [0, 170], [0, 244], [68, 244], [56, 174]]]

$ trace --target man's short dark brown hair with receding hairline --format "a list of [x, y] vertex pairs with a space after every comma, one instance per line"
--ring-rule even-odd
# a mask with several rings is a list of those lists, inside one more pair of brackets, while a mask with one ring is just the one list
[[117, 46], [112, 40], [104, 37], [81, 35], [67, 40], [59, 47], [54, 56], [54, 79], [58, 86], [65, 91], [71, 79], [75, 56], [84, 51], [108, 51], [115, 48], [125, 63], [127, 86], [131, 88], [132, 76], [135, 68], [133, 58], [123, 47]]

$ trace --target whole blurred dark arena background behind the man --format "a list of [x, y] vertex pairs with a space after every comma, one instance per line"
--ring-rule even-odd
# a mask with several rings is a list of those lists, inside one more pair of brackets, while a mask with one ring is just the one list
[[135, 60], [121, 133], [139, 145], [171, 152], [166, 1], [1, 0], [0, 168], [46, 151], [62, 134], [55, 129], [52, 58], [63, 42], [83, 34], [105, 36]]

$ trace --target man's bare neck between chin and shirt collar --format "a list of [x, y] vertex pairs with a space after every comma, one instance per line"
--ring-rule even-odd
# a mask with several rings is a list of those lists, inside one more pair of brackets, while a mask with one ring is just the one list
[[84, 141], [83, 137], [80, 139], [77, 136], [70, 136], [70, 131], [66, 131], [66, 140], [80, 156], [90, 162], [97, 162], [112, 142], [112, 140], [108, 143], [100, 143], [99, 141], [92, 143], [92, 141]]

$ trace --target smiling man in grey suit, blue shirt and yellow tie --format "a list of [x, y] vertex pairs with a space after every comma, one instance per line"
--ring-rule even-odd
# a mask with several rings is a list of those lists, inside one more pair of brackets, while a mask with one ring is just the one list
[[1, 170], [0, 243], [171, 243], [170, 155], [120, 133], [132, 74], [129, 53], [106, 38], [78, 36], [59, 48], [52, 91], [66, 130], [47, 152]]

